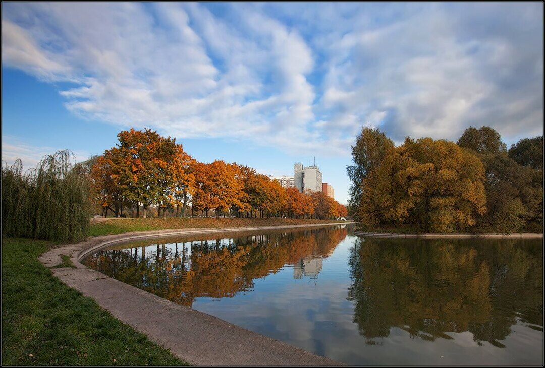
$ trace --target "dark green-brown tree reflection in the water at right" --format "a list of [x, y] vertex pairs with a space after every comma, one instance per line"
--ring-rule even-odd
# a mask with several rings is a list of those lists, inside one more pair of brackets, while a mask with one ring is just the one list
[[523, 240], [356, 240], [350, 249], [354, 322], [367, 344], [392, 327], [425, 340], [469, 331], [481, 345], [517, 322], [542, 330], [542, 244]]

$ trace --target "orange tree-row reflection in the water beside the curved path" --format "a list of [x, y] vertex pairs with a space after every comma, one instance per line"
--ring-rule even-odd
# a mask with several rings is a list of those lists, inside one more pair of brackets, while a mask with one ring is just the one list
[[227, 237], [211, 241], [164, 241], [152, 246], [103, 250], [84, 263], [98, 271], [191, 306], [197, 297], [234, 297], [253, 281], [293, 265], [293, 277], [316, 277], [322, 258], [347, 236], [346, 228]]

